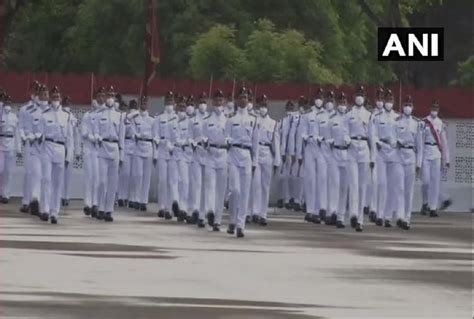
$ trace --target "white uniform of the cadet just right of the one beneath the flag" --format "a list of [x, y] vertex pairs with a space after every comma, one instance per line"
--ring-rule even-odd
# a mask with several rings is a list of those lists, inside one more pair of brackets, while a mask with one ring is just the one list
[[173, 202], [178, 202], [178, 172], [173, 160], [178, 118], [175, 112], [163, 112], [155, 117], [153, 136], [156, 145], [154, 158], [158, 171], [158, 208], [170, 212]]

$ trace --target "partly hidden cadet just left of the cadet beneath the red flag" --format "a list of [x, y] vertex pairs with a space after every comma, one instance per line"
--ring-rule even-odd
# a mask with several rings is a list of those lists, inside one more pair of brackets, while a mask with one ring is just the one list
[[136, 154], [137, 143], [133, 136], [133, 121], [132, 119], [138, 115], [137, 101], [133, 100], [129, 102], [129, 112], [126, 114], [125, 123], [125, 150], [123, 164], [119, 169], [119, 186], [118, 186], [118, 201], [119, 207], [130, 205], [131, 208], [140, 209], [138, 199], [135, 198], [136, 194], [136, 179], [132, 178], [132, 167], [134, 154]]

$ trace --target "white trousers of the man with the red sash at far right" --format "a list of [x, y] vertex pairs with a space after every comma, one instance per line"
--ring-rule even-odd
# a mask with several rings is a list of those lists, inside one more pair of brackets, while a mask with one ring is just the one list
[[423, 160], [422, 180], [426, 186], [428, 207], [430, 210], [438, 209], [439, 187], [441, 183], [441, 159]]

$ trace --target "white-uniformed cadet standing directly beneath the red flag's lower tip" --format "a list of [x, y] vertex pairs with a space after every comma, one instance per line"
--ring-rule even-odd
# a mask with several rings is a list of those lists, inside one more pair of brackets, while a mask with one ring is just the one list
[[148, 194], [150, 192], [153, 155], [155, 153], [155, 144], [153, 142], [155, 119], [148, 113], [148, 98], [146, 96], [141, 97], [140, 111], [129, 113], [126, 121], [130, 121], [133, 140], [136, 144], [131, 168], [133, 187], [130, 189], [134, 193], [130, 194], [130, 200], [133, 200], [136, 209], [139, 208], [141, 211], [146, 211]]

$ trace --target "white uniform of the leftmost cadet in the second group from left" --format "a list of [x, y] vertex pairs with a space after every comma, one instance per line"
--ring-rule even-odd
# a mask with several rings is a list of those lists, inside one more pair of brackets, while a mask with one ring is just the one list
[[84, 205], [88, 208], [99, 206], [99, 158], [97, 157], [97, 136], [94, 134], [99, 110], [92, 109], [84, 114], [81, 121], [82, 156], [84, 157]]

